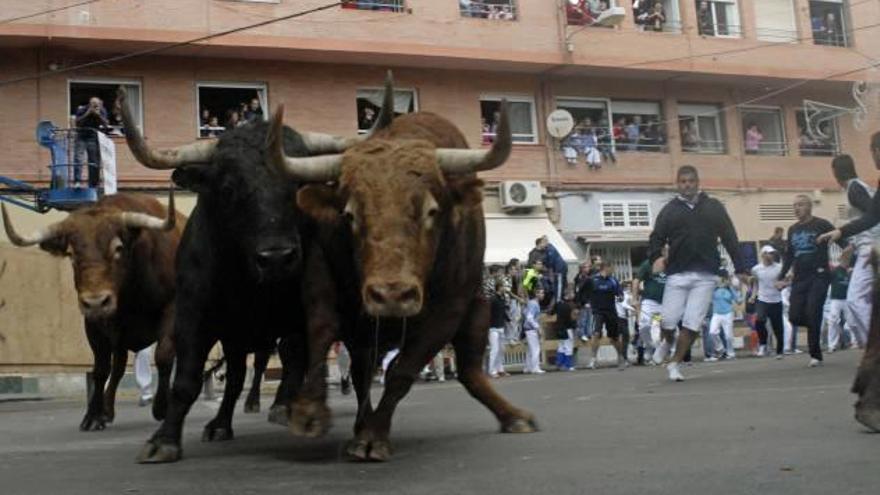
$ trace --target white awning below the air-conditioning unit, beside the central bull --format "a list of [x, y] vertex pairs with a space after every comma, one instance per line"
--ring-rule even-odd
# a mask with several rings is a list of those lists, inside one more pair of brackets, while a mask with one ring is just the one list
[[511, 258], [525, 261], [535, 239], [546, 235], [567, 263], [578, 257], [546, 216], [486, 214], [486, 263], [504, 264]]

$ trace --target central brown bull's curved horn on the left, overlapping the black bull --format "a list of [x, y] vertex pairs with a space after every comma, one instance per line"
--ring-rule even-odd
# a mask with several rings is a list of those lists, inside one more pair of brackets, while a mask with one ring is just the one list
[[289, 175], [297, 182], [330, 182], [339, 178], [342, 155], [322, 155], [292, 158], [284, 154], [284, 105], [279, 105], [272, 116], [266, 145], [269, 160], [280, 173]]

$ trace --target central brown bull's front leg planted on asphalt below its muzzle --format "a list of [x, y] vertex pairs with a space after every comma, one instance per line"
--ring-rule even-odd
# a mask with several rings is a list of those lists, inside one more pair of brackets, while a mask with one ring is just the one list
[[[443, 330], [455, 328], [457, 323], [439, 315], [435, 316], [434, 321], [431, 318], [426, 319], [430, 324], [426, 322], [422, 328], [415, 329], [417, 331], [410, 334], [404, 348], [386, 373], [385, 390], [379, 405], [374, 412], [365, 414], [360, 430], [348, 445], [348, 454], [353, 458], [362, 461], [387, 461], [391, 458], [388, 434], [394, 410], [409, 393], [425, 363], [440, 352], [448, 341]], [[433, 332], [435, 330], [436, 333]]]

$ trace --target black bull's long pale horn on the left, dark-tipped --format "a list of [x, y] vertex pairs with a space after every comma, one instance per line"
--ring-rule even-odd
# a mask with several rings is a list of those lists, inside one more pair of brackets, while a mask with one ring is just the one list
[[131, 108], [126, 101], [127, 96], [125, 88], [120, 86], [116, 96], [116, 105], [122, 115], [125, 142], [128, 143], [128, 147], [137, 161], [147, 168], [157, 170], [169, 170], [194, 163], [211, 163], [214, 148], [217, 147], [217, 141], [214, 139], [202, 139], [175, 148], [151, 149], [144, 141], [144, 136], [141, 135], [141, 131], [134, 121]]

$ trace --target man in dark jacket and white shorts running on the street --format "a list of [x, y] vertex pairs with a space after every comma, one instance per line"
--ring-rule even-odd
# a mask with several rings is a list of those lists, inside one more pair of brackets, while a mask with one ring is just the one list
[[[651, 232], [649, 257], [655, 273], [666, 271], [663, 291], [662, 328], [670, 338], [681, 323], [675, 356], [666, 367], [669, 379], [684, 377], [679, 363], [694, 343], [712, 303], [721, 256], [718, 240], [733, 259], [736, 273], [744, 276], [747, 267], [739, 253], [736, 229], [724, 205], [700, 191], [697, 169], [685, 165], [676, 175], [678, 196], [663, 207]], [[663, 246], [669, 256], [663, 261]], [[665, 265], [665, 266], [664, 266]]]

